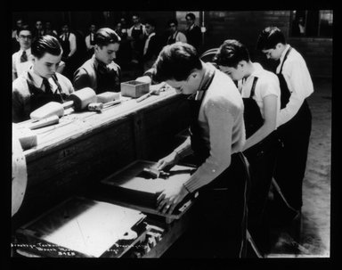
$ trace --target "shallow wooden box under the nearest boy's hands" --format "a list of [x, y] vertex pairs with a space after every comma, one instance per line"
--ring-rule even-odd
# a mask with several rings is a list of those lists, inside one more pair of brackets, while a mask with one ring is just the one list
[[170, 176], [167, 179], [146, 176], [143, 168], [153, 168], [155, 165], [156, 162], [135, 160], [125, 168], [103, 179], [100, 184], [99, 193], [106, 197], [104, 199], [106, 201], [109, 200], [132, 209], [139, 209], [142, 212], [172, 219], [182, 217], [193, 203], [194, 196], [196, 197], [197, 194], [186, 196], [175, 207], [172, 214], [162, 214], [157, 211], [157, 198], [168, 181], [185, 183], [195, 168], [175, 165], [168, 171]]

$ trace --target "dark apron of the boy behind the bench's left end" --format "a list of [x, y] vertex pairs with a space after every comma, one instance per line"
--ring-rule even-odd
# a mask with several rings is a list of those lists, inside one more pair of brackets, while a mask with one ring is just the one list
[[37, 88], [32, 83], [32, 77], [28, 73], [28, 91], [30, 96], [30, 111], [36, 110], [48, 102], [60, 102], [63, 103], [67, 98], [67, 94], [62, 93], [61, 85], [57, 80], [57, 77], [53, 75], [53, 81], [57, 85], [58, 91], [55, 93], [45, 93], [42, 89]]

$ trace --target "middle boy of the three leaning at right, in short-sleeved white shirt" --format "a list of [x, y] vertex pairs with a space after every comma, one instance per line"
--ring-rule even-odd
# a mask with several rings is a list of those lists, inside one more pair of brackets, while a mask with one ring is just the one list
[[[252, 62], [246, 46], [237, 40], [225, 40], [214, 61], [221, 71], [238, 82], [245, 102], [247, 140], [243, 151], [250, 165], [251, 176], [248, 230], [260, 252], [265, 253], [269, 248], [268, 233], [263, 226], [265, 206], [281, 146], [275, 133], [281, 110], [279, 79], [273, 72], [264, 70], [259, 63]], [[254, 102], [256, 106], [250, 108], [250, 103], [246, 101]], [[256, 115], [260, 116], [260, 121]]]

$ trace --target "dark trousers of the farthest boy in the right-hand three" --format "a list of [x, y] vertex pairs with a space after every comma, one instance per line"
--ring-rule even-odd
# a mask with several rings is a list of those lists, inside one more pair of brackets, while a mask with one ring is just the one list
[[278, 134], [284, 147], [280, 151], [274, 179], [289, 205], [297, 210], [300, 210], [303, 205], [302, 185], [311, 126], [312, 115], [305, 101], [293, 119], [278, 127]]

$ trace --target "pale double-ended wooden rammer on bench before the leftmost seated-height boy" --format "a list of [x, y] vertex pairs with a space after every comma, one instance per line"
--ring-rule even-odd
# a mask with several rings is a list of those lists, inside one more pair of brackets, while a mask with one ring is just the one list
[[46, 119], [57, 115], [62, 117], [64, 110], [73, 107], [73, 110], [79, 111], [87, 108], [89, 103], [96, 102], [96, 93], [90, 87], [85, 87], [70, 94], [68, 101], [64, 103], [48, 102], [42, 107], [30, 113], [30, 119]]

